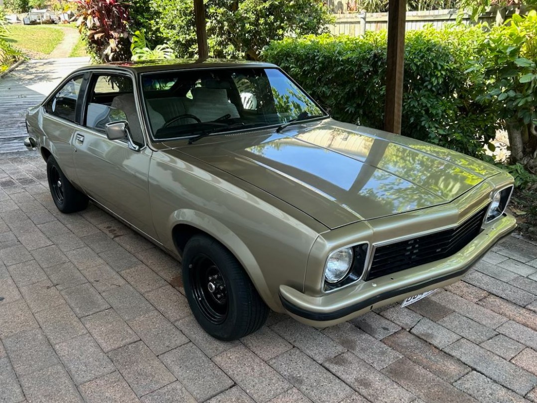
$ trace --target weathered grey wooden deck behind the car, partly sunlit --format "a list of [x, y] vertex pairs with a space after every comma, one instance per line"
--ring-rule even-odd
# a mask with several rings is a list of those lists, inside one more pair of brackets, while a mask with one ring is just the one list
[[89, 64], [88, 57], [30, 60], [0, 78], [0, 158], [30, 155], [24, 116], [72, 70]]

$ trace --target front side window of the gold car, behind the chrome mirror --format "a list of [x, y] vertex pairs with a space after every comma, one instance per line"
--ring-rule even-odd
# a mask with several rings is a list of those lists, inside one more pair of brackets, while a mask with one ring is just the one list
[[133, 81], [121, 75], [94, 75], [88, 91], [84, 125], [100, 132], [107, 123], [124, 121], [132, 140], [143, 145], [140, 118], [136, 109]]

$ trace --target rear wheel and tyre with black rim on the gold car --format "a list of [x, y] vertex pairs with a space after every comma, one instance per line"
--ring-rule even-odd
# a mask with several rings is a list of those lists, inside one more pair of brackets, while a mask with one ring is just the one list
[[47, 178], [54, 204], [62, 213], [74, 213], [88, 207], [88, 196], [75, 189], [52, 155], [47, 160]]

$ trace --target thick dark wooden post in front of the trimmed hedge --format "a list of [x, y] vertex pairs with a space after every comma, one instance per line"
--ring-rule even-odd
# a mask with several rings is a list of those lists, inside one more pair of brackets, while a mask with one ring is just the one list
[[401, 134], [406, 0], [389, 0], [384, 130]]

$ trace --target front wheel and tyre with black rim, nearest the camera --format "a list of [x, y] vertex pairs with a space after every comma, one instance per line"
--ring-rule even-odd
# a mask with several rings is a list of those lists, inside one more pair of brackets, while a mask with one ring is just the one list
[[183, 284], [195, 318], [216, 339], [240, 339], [262, 327], [269, 316], [235, 256], [207, 235], [194, 235], [186, 243]]

